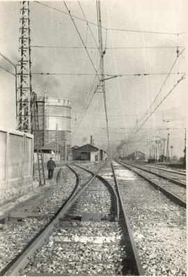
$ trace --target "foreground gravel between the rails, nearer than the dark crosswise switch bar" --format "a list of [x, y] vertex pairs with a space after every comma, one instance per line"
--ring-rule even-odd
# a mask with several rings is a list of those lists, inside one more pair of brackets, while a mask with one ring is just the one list
[[121, 274], [126, 253], [116, 223], [84, 222], [77, 229], [54, 231], [31, 258], [26, 274]]

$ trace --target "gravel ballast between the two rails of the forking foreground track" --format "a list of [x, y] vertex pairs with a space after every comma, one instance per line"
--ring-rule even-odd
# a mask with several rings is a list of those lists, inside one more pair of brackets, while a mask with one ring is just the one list
[[[125, 267], [129, 267], [127, 246], [118, 222], [111, 221], [111, 217], [107, 221], [109, 216], [114, 218], [111, 205], [109, 190], [95, 179], [61, 219], [61, 225], [54, 228], [46, 243], [30, 258], [21, 274], [122, 275]], [[81, 216], [86, 213], [100, 214], [102, 221], [82, 221]]]

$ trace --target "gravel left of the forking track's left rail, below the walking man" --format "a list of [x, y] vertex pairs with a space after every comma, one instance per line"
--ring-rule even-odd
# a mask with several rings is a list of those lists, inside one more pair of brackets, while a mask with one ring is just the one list
[[[57, 212], [75, 187], [75, 174], [63, 167], [61, 180], [56, 190], [40, 205], [33, 207], [33, 212], [39, 214], [51, 214]], [[20, 203], [19, 203], [20, 205]], [[24, 209], [24, 206], [22, 207]], [[10, 262], [26, 244], [45, 227], [47, 219], [24, 219], [23, 223], [8, 223], [0, 227], [0, 270]]]

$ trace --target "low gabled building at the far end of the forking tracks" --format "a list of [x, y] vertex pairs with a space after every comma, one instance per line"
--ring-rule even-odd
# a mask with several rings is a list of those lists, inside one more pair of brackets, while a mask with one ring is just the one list
[[75, 161], [105, 161], [107, 152], [91, 144], [72, 147], [72, 160]]

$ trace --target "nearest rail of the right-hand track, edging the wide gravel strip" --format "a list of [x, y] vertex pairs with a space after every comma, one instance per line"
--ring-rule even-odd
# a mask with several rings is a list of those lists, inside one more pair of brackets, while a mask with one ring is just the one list
[[[186, 203], [185, 201], [183, 201], [182, 199], [178, 198], [178, 196], [175, 196], [173, 193], [171, 193], [170, 191], [167, 191], [167, 189], [164, 189], [164, 187], [159, 186], [159, 184], [157, 184], [156, 182], [150, 180], [148, 177], [142, 175], [141, 173], [138, 173], [136, 170], [134, 170], [133, 166], [130, 166], [128, 164], [124, 164], [121, 163], [120, 161], [117, 161], [118, 164], [121, 164], [122, 166], [124, 166], [125, 168], [130, 169], [131, 171], [134, 171], [136, 174], [140, 175], [141, 177], [143, 177], [143, 179], [145, 179], [146, 181], [148, 181], [150, 184], [152, 184], [152, 187], [155, 187], [155, 189], [162, 191], [162, 193], [164, 193], [167, 197], [169, 197], [174, 203], [178, 204], [181, 207], [186, 208]], [[130, 166], [130, 167], [129, 167]], [[142, 170], [142, 168], [139, 168]], [[143, 170], [144, 171], [144, 170]]]

